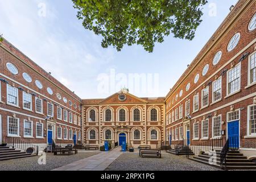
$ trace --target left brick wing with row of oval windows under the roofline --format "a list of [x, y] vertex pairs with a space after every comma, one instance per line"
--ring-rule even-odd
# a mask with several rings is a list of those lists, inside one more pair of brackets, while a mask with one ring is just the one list
[[7, 40], [0, 45], [0, 143], [81, 140], [81, 99]]

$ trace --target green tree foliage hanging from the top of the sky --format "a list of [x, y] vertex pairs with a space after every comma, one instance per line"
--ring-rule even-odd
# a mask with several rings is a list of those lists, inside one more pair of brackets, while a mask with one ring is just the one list
[[171, 33], [192, 40], [206, 0], [72, 0], [85, 29], [102, 36], [101, 46], [140, 44], [152, 52]]

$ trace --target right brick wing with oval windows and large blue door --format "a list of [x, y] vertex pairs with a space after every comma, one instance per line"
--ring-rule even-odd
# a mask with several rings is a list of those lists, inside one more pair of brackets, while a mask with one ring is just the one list
[[236, 137], [256, 157], [255, 7], [239, 1], [167, 94], [167, 140]]

